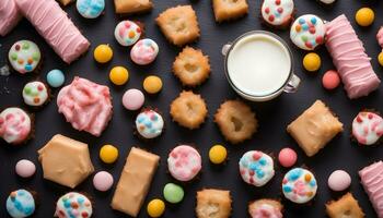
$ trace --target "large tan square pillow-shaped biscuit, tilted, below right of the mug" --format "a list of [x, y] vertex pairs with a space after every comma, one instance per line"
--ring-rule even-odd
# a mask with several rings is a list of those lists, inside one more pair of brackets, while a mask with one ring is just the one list
[[288, 125], [287, 131], [304, 153], [311, 157], [343, 131], [343, 123], [324, 102], [316, 100]]

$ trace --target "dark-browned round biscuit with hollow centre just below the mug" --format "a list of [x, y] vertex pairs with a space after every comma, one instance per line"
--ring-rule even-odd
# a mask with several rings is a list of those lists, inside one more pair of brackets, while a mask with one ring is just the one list
[[251, 138], [258, 125], [252, 108], [241, 100], [223, 102], [214, 114], [214, 121], [223, 136], [232, 144]]

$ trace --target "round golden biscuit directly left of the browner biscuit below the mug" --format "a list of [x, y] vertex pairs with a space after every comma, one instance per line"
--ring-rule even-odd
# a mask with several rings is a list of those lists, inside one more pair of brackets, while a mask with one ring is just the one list
[[183, 90], [171, 104], [170, 112], [179, 125], [193, 130], [204, 123], [208, 109], [200, 95]]

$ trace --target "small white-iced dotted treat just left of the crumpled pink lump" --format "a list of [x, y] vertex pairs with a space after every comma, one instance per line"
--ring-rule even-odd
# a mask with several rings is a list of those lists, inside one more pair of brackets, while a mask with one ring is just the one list
[[27, 106], [38, 107], [44, 105], [49, 98], [47, 86], [39, 81], [25, 84], [23, 88], [23, 99]]

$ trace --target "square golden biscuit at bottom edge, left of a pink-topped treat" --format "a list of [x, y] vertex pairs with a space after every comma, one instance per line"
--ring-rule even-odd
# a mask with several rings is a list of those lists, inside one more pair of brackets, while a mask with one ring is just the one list
[[198, 218], [227, 218], [231, 213], [230, 191], [202, 190], [197, 192]]

